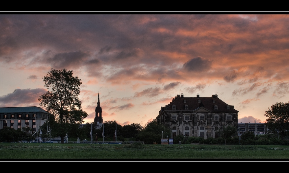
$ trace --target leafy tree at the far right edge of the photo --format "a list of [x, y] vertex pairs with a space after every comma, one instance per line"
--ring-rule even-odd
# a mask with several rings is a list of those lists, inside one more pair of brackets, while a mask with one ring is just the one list
[[264, 115], [267, 117], [265, 125], [271, 131], [277, 129], [282, 136], [285, 136], [286, 131], [289, 130], [289, 102], [276, 102], [271, 106], [271, 110], [268, 108], [268, 111], [265, 111]]

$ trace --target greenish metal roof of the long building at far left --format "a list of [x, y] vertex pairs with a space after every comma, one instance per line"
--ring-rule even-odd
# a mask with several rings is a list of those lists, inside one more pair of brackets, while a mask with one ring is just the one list
[[29, 106], [29, 107], [9, 107], [9, 108], [0, 108], [0, 113], [28, 113], [28, 112], [43, 112], [48, 113], [46, 110], [39, 108], [37, 106]]

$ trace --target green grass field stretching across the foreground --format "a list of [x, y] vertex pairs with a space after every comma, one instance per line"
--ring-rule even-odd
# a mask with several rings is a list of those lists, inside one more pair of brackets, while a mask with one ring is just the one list
[[1, 159], [288, 159], [289, 146], [0, 143]]

